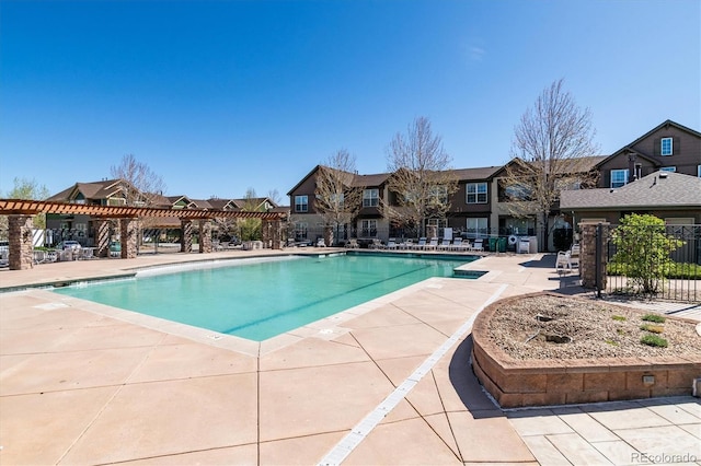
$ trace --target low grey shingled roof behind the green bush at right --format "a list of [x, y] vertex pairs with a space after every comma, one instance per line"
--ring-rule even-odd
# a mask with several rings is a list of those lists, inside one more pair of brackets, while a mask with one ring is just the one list
[[562, 210], [688, 209], [701, 206], [701, 178], [671, 172], [654, 172], [617, 188], [564, 190]]

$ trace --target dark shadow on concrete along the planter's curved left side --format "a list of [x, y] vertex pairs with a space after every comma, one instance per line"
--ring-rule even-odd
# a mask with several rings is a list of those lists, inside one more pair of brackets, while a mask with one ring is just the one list
[[502, 409], [482, 388], [480, 381], [472, 372], [472, 336], [464, 339], [456, 349], [448, 366], [450, 383], [460, 400], [474, 419], [504, 417]]

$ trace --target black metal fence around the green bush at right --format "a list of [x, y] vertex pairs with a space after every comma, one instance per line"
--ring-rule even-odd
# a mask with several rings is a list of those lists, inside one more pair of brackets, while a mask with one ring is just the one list
[[701, 302], [701, 225], [600, 226], [608, 294]]

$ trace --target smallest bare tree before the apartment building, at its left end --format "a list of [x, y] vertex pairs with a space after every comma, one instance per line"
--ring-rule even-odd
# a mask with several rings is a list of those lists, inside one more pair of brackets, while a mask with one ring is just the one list
[[324, 223], [324, 241], [333, 244], [333, 229], [352, 223], [363, 208], [364, 186], [356, 183], [355, 156], [341, 149], [319, 165], [314, 208]]

